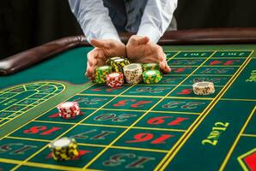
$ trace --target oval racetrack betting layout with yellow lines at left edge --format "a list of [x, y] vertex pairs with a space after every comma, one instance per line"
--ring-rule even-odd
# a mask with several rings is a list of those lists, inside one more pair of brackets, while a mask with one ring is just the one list
[[55, 82], [36, 82], [0, 91], [0, 127], [64, 91]]

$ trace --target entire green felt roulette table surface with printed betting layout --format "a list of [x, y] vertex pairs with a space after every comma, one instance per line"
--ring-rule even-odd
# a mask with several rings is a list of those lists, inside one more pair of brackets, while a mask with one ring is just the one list
[[[164, 46], [172, 72], [155, 85], [94, 85], [76, 48], [0, 77], [0, 170], [253, 170], [256, 55], [253, 44]], [[192, 84], [212, 81], [196, 96]], [[58, 116], [76, 101], [81, 115]], [[80, 156], [52, 160], [53, 139]]]

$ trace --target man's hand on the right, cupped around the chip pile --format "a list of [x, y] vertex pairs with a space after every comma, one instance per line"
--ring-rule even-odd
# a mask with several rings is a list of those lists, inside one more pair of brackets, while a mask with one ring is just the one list
[[126, 52], [131, 62], [159, 63], [162, 72], [168, 73], [171, 68], [168, 67], [166, 55], [160, 45], [149, 41], [147, 37], [133, 35], [126, 45]]

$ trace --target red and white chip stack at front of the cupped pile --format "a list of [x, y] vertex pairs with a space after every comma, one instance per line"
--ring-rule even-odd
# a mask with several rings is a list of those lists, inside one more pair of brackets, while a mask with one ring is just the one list
[[120, 72], [115, 72], [111, 74], [107, 74], [106, 76], [107, 85], [110, 87], [117, 87], [124, 85], [124, 74]]

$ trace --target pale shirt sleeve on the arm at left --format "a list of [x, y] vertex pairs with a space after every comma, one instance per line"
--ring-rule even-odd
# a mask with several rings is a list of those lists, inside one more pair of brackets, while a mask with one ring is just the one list
[[69, 0], [69, 3], [88, 41], [92, 38], [120, 41], [102, 0]]

